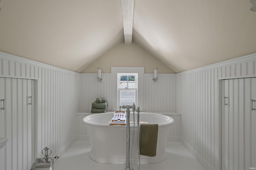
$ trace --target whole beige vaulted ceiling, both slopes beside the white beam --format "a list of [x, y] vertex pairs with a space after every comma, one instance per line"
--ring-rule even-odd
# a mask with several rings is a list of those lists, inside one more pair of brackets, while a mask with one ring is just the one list
[[[256, 53], [251, 6], [134, 0], [132, 41], [175, 72]], [[124, 41], [121, 0], [2, 0], [0, 8], [0, 51], [41, 63], [80, 72]]]

